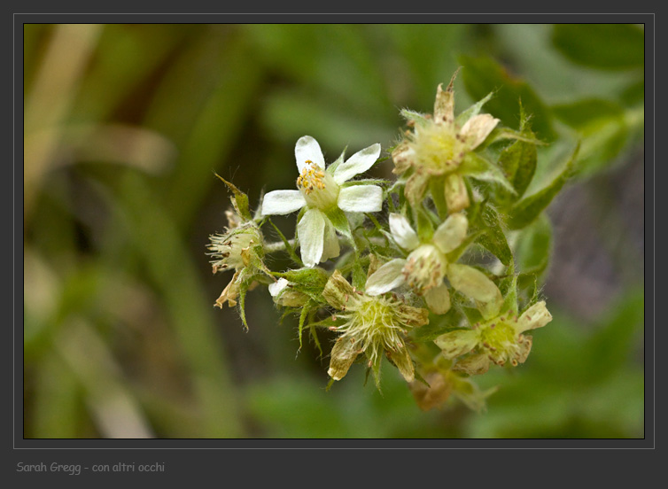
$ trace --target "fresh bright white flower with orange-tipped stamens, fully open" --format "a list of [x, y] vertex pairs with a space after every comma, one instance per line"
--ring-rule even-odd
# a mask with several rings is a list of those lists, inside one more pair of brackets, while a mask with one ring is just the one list
[[346, 182], [367, 171], [380, 155], [380, 144], [356, 152], [346, 161], [343, 155], [325, 169], [320, 144], [302, 136], [295, 145], [299, 169], [299, 190], [274, 190], [262, 201], [263, 215], [288, 214], [306, 206], [297, 223], [301, 260], [307, 267], [338, 256], [340, 252], [334, 213], [376, 213], [383, 207], [383, 190], [377, 185]]

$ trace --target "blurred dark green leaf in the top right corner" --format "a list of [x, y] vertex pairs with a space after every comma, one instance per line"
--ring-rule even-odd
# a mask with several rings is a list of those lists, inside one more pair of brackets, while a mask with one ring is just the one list
[[573, 63], [607, 70], [645, 65], [645, 32], [632, 24], [556, 24], [552, 43]]

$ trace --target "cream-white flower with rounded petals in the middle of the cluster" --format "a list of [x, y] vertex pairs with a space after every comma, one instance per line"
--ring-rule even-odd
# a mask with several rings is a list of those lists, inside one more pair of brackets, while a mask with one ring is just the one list
[[367, 293], [384, 294], [406, 283], [424, 297], [432, 312], [445, 314], [450, 308], [450, 293], [444, 283], [447, 276], [456, 290], [477, 300], [480, 307], [500, 307], [501, 291], [485, 274], [447, 260], [447, 253], [462, 245], [468, 226], [469, 221], [462, 213], [450, 214], [434, 231], [431, 240], [423, 243], [406, 217], [390, 214], [392, 237], [410, 253], [406, 259], [388, 261], [369, 276]]

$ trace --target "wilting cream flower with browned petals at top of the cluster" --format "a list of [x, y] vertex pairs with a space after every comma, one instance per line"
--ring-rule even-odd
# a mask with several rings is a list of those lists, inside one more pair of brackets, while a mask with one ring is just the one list
[[496, 127], [499, 120], [488, 113], [473, 113], [460, 123], [454, 118], [454, 77], [447, 89], [439, 85], [433, 116], [405, 113], [414, 125], [412, 132], [392, 151], [393, 172], [401, 175], [413, 168], [406, 182], [406, 197], [412, 205], [422, 201], [430, 179], [444, 186], [447, 209], [450, 213], [470, 205], [469, 194], [461, 171], [466, 155], [478, 148]]

